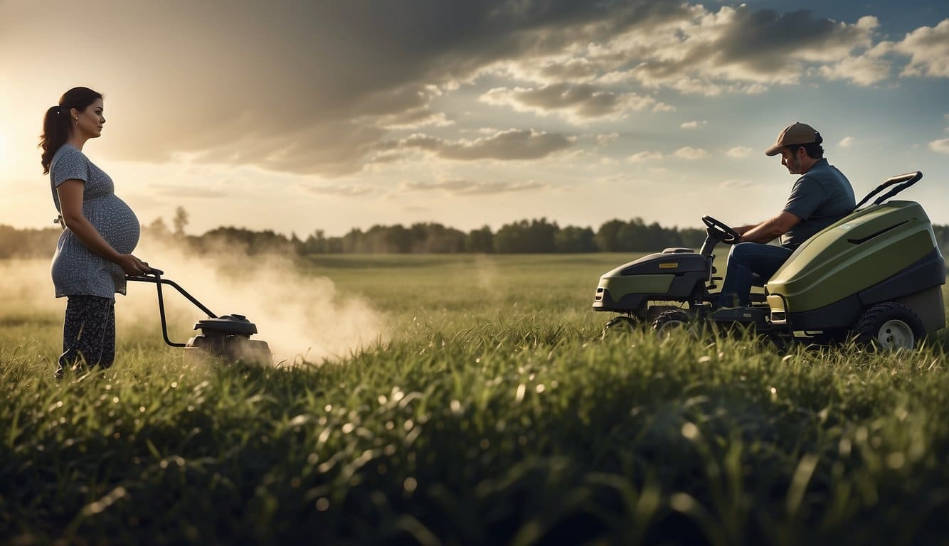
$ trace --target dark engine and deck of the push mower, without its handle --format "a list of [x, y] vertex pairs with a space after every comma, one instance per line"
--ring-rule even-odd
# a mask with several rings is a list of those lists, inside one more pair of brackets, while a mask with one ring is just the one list
[[270, 362], [270, 346], [267, 341], [251, 339], [257, 326], [243, 315], [224, 315], [214, 319], [198, 320], [195, 330], [201, 334], [188, 339], [184, 345], [185, 356], [210, 355], [229, 362]]

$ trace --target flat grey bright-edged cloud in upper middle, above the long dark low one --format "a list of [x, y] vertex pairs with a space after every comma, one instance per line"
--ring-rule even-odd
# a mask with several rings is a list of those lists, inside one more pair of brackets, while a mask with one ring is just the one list
[[613, 93], [594, 85], [557, 83], [539, 88], [498, 87], [480, 100], [495, 106], [511, 106], [518, 112], [541, 116], [557, 113], [575, 123], [592, 119], [619, 119], [656, 104], [652, 97], [636, 93]]

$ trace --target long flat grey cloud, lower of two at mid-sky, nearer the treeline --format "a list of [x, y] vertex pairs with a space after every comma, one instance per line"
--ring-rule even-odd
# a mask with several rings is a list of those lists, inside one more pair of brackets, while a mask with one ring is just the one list
[[573, 141], [572, 137], [555, 133], [511, 129], [497, 132], [490, 137], [455, 142], [417, 134], [400, 140], [397, 146], [402, 150], [415, 148], [431, 152], [443, 159], [458, 161], [510, 161], [538, 159], [562, 152], [572, 146]]

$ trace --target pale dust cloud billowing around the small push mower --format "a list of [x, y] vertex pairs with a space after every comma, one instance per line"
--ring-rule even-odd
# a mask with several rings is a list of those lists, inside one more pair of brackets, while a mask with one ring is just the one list
[[[267, 341], [274, 362], [334, 360], [383, 341], [381, 314], [367, 300], [340, 294], [330, 279], [301, 272], [286, 256], [248, 256], [228, 249], [195, 254], [155, 244], [142, 245], [136, 255], [164, 271], [164, 279], [177, 282], [215, 315], [251, 320], [257, 326], [251, 339]], [[140, 292], [157, 300], [154, 284], [129, 283], [130, 300], [137, 300]], [[174, 288], [164, 286], [163, 294], [166, 315], [186, 314], [194, 318], [191, 327], [207, 318]], [[157, 306], [156, 301], [156, 322]]]

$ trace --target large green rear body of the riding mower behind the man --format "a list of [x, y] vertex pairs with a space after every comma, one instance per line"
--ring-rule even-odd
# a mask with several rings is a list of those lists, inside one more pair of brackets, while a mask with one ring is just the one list
[[894, 301], [927, 333], [945, 326], [945, 262], [919, 203], [892, 201], [851, 213], [791, 254], [765, 285], [774, 324], [848, 329], [864, 310]]

